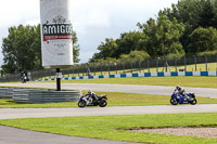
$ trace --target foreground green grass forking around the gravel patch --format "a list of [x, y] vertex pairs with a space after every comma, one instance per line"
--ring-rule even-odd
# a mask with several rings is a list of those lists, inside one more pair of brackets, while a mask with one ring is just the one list
[[69, 136], [157, 144], [216, 144], [217, 139], [131, 132], [116, 129], [217, 127], [217, 114], [157, 114], [0, 120], [0, 125]]

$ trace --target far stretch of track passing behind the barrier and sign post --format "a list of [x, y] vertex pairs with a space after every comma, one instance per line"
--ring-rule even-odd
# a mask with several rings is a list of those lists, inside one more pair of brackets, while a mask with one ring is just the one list
[[[217, 83], [215, 83], [217, 84]], [[55, 83], [1, 83], [1, 86], [56, 88]], [[171, 95], [175, 87], [137, 86], [137, 84], [103, 84], [103, 83], [62, 83], [62, 89], [93, 90], [105, 92], [125, 92], [140, 94]], [[194, 92], [196, 96], [217, 99], [217, 89], [184, 87], [187, 92]]]

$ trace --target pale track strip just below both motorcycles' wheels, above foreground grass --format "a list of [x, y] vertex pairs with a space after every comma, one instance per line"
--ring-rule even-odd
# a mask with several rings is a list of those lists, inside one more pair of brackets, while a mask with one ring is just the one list
[[105, 116], [139, 114], [217, 113], [217, 104], [115, 106], [85, 108], [0, 108], [0, 119], [66, 116]]

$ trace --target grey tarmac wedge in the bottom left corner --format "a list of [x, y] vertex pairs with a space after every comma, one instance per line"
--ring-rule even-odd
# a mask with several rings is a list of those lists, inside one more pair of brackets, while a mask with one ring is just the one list
[[86, 139], [21, 130], [0, 126], [0, 144], [139, 144], [100, 139]]

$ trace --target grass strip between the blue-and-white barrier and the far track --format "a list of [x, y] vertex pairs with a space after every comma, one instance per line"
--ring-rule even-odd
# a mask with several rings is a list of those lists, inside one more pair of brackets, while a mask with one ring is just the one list
[[[54, 82], [54, 81], [52, 81]], [[144, 84], [194, 88], [217, 88], [217, 77], [139, 77], [139, 78], [104, 78], [62, 80], [62, 83], [113, 83], [113, 84]]]

